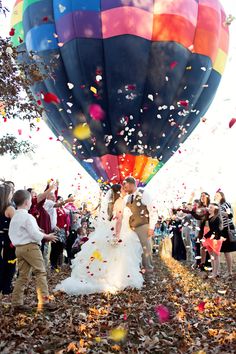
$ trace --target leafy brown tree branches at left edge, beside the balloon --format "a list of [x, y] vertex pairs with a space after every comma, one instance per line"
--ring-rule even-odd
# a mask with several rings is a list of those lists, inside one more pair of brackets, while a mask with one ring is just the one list
[[[0, 4], [0, 10], [2, 4]], [[43, 109], [37, 104], [29, 89], [32, 84], [27, 78], [31, 66], [17, 65], [17, 51], [9, 38], [0, 37], [0, 119], [27, 119], [34, 128], [33, 119], [40, 117]], [[16, 158], [21, 153], [34, 152], [35, 147], [27, 141], [18, 141], [12, 135], [0, 138], [0, 155], [9, 154]]]

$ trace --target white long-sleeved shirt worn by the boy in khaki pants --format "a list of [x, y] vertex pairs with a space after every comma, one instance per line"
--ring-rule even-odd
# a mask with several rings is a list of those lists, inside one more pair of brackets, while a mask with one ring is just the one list
[[16, 210], [10, 222], [9, 237], [14, 246], [27, 245], [28, 243], [40, 244], [44, 234], [38, 224], [26, 209]]

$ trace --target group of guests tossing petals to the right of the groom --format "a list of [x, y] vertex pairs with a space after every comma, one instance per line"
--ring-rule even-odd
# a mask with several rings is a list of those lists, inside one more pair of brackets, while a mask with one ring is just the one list
[[230, 278], [233, 272], [232, 252], [236, 252], [233, 218], [231, 204], [221, 190], [215, 193], [213, 201], [207, 192], [203, 192], [200, 199], [172, 209], [169, 218], [159, 218], [154, 252], [160, 241], [167, 237], [171, 240], [173, 258], [200, 271], [210, 272], [209, 277], [212, 278], [220, 277], [220, 255], [224, 254], [227, 272], [223, 276]]

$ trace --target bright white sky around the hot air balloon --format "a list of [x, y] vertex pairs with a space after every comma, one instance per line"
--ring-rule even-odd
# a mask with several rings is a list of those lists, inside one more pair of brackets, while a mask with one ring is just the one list
[[[5, 4], [11, 9], [15, 1]], [[227, 14], [236, 17], [236, 1], [221, 0]], [[12, 6], [11, 6], [12, 4]], [[0, 34], [7, 35], [9, 17], [2, 19]], [[236, 125], [229, 129], [229, 121], [236, 118], [236, 21], [230, 26], [230, 51], [228, 63], [220, 87], [209, 111], [206, 122], [200, 123], [181, 148], [182, 153], [174, 155], [147, 186], [152, 196], [160, 204], [176, 203], [176, 199], [188, 200], [194, 191], [214, 194], [221, 188], [227, 199], [236, 205]], [[0, 177], [12, 179], [18, 188], [35, 186], [39, 191], [49, 178], [58, 178], [61, 193], [77, 193], [81, 200], [93, 200], [98, 195], [98, 187], [78, 162], [57, 142], [43, 121], [37, 123], [39, 132], [29, 131], [28, 124], [9, 121], [0, 122], [0, 137], [5, 133], [17, 134], [22, 129], [22, 137], [37, 146], [35, 154], [28, 154], [12, 160], [0, 157]], [[78, 185], [80, 190], [78, 190]]]

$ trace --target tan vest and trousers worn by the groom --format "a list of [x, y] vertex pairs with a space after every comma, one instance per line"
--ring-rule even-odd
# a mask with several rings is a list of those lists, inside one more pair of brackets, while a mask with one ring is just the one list
[[[150, 213], [148, 206], [143, 201], [143, 192], [143, 190], [137, 190], [134, 194], [129, 195], [126, 205], [132, 212], [129, 219], [130, 227], [138, 235], [143, 248], [143, 267], [146, 271], [152, 271], [152, 240], [148, 237]], [[152, 227], [154, 229], [154, 225]]]

